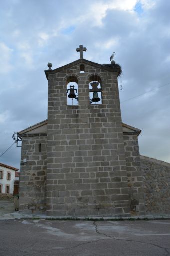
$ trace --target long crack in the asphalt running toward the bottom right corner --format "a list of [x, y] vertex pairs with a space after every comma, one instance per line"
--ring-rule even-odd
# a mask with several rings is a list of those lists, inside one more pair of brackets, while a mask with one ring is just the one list
[[169, 255], [170, 255], [170, 253], [169, 253], [169, 251], [168, 251], [169, 248], [165, 248], [165, 247], [159, 246], [159, 245], [154, 244], [154, 243], [151, 243], [151, 242], [143, 242], [143, 241], [137, 241], [137, 240], [128, 240], [128, 239], [123, 239], [123, 238], [116, 238], [116, 237], [114, 237], [114, 236], [109, 236], [109, 235], [107, 235], [107, 234], [105, 234], [105, 233], [99, 232], [98, 226], [97, 226], [97, 224], [96, 224], [96, 221], [94, 221], [93, 224], [94, 224], [94, 226], [95, 226], [95, 230], [96, 230], [96, 233], [97, 233], [97, 234], [104, 235], [104, 236], [106, 236], [106, 237], [108, 237], [108, 238], [110, 238], [110, 239], [117, 240], [117, 241], [127, 241], [127, 242], [136, 242], [136, 243], [142, 243], [142, 244], [150, 244], [150, 245], [152, 245], [152, 246], [155, 246], [155, 247], [158, 247], [158, 248], [160, 248], [160, 249], [163, 249], [163, 250], [166, 252], [165, 256], [169, 256]]

